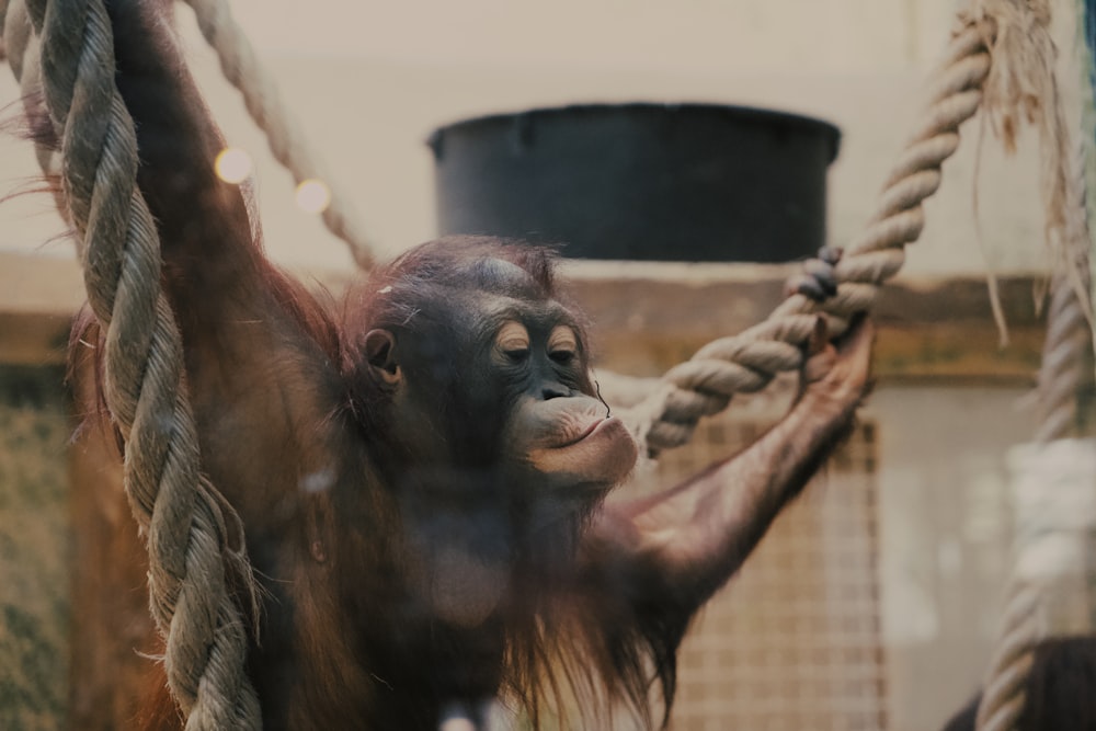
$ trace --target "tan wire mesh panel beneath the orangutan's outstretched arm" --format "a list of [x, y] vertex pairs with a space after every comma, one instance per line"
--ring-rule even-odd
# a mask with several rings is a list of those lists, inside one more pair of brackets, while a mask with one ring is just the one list
[[[780, 416], [789, 390], [735, 399], [638, 489], [737, 453]], [[674, 731], [886, 728], [876, 435], [859, 424], [704, 609], [681, 652]]]

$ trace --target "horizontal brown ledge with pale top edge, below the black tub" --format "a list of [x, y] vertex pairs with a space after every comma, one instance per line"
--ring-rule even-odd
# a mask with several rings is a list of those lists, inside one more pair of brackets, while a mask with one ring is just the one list
[[[704, 343], [764, 319], [783, 299], [795, 265], [564, 263], [569, 290], [594, 322], [600, 361], [632, 375], [660, 375]], [[341, 292], [347, 271], [300, 271]], [[1043, 324], [1034, 277], [1000, 282], [1009, 344], [998, 345], [985, 282], [978, 277], [899, 277], [875, 309], [880, 378], [1032, 382]], [[0, 363], [65, 359], [69, 320], [83, 302], [72, 260], [0, 253]]]

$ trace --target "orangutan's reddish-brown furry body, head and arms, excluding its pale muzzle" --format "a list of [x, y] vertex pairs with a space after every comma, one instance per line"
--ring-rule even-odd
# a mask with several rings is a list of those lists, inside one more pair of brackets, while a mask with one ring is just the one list
[[[506, 457], [517, 404], [594, 395], [550, 254], [443, 240], [342, 302], [309, 294], [267, 262], [247, 197], [214, 175], [222, 141], [162, 3], [109, 5], [204, 469], [243, 519], [263, 589], [249, 670], [264, 726], [434, 729], [447, 707], [475, 716], [495, 696], [534, 722], [576, 699], [587, 717], [609, 701], [657, 726], [650, 690], [661, 684], [669, 709], [689, 620], [852, 424], [870, 329], [840, 350], [810, 344], [802, 396], [734, 459], [639, 502], [602, 504], [605, 476], [558, 498], [562, 477]], [[500, 302], [524, 308], [534, 343], [541, 325], [572, 328], [573, 361], [523, 355], [538, 380], [513, 375], [526, 366], [491, 350]], [[78, 356], [94, 342], [81, 332]], [[431, 594], [449, 548], [473, 557], [456, 566], [482, 603]], [[499, 567], [501, 589], [478, 578]], [[141, 724], [182, 728], [162, 676], [155, 686]]]

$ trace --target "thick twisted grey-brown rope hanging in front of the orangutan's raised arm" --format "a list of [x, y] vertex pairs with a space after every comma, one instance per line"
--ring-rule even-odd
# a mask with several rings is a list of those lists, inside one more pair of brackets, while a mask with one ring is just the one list
[[[13, 9], [4, 10], [11, 22]], [[226, 559], [240, 558], [225, 523], [226, 512], [236, 516], [198, 471], [182, 342], [159, 288], [156, 225], [136, 187], [133, 119], [114, 87], [110, 18], [101, 0], [27, 0], [26, 10], [41, 37], [42, 89], [61, 140], [88, 299], [105, 330], [105, 398], [126, 439], [126, 494], [148, 540], [168, 683], [187, 729], [259, 728], [244, 625], [225, 575]]]

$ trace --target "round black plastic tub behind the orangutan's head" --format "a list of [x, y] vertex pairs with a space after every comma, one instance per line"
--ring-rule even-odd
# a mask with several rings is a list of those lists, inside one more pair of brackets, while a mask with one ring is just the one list
[[567, 256], [783, 262], [825, 243], [832, 124], [711, 104], [544, 108], [437, 129], [442, 235]]

